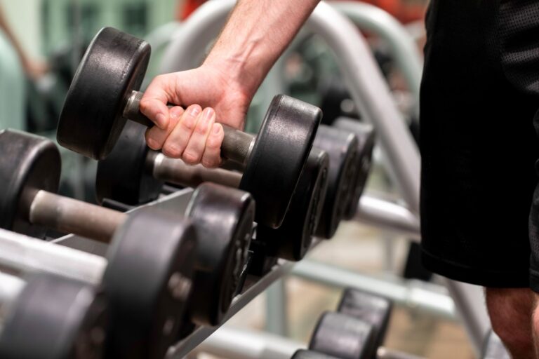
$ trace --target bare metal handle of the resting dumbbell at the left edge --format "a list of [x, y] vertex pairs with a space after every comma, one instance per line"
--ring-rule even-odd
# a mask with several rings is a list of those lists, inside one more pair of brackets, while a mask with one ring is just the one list
[[125, 213], [51, 192], [34, 191], [33, 194], [27, 194], [29, 222], [63, 233], [109, 243], [114, 231], [127, 218]]

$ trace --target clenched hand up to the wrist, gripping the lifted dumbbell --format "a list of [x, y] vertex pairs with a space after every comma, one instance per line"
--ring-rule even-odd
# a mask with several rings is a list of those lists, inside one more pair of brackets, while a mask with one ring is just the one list
[[[189, 164], [217, 167], [224, 136], [219, 123], [243, 129], [250, 102], [251, 95], [210, 65], [157, 76], [140, 101], [140, 111], [156, 124], [147, 130], [147, 144]], [[168, 109], [167, 103], [188, 107]]]

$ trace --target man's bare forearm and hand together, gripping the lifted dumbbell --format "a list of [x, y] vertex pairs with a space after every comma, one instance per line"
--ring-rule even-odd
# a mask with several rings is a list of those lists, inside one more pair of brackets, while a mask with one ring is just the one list
[[140, 111], [156, 124], [146, 133], [148, 146], [187, 163], [219, 165], [224, 132], [218, 123], [244, 128], [258, 86], [318, 2], [239, 0], [204, 65], [150, 83], [140, 101]]

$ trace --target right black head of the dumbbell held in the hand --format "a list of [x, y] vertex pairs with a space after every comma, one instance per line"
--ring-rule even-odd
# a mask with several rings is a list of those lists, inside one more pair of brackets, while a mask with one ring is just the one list
[[256, 222], [274, 229], [283, 222], [321, 116], [312, 104], [273, 98], [239, 185], [255, 198]]

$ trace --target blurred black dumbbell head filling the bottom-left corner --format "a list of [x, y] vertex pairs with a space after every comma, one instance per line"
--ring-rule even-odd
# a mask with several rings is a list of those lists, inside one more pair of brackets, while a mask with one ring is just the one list
[[100, 359], [107, 311], [87, 283], [36, 273], [11, 307], [0, 336], [2, 359]]

